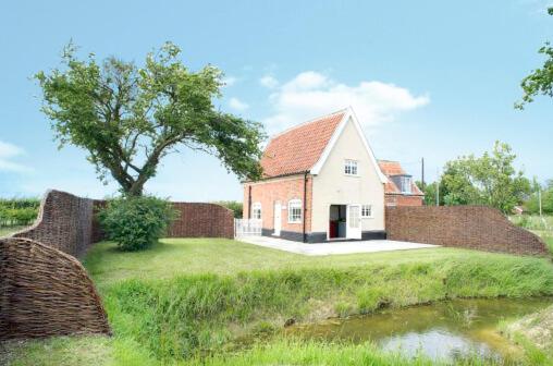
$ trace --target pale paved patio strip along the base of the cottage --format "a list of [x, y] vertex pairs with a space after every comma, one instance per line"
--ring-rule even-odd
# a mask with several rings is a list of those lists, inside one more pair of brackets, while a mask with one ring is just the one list
[[308, 256], [322, 256], [333, 254], [376, 253], [390, 251], [421, 249], [439, 247], [440, 245], [396, 242], [389, 240], [371, 240], [355, 242], [334, 242], [306, 244], [270, 236], [239, 236], [237, 241], [254, 245], [286, 251]]

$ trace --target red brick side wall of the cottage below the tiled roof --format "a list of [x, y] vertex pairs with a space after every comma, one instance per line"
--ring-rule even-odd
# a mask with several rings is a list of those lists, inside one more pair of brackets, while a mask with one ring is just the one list
[[261, 203], [261, 218], [263, 229], [274, 229], [273, 206], [275, 200], [280, 200], [286, 210], [282, 210], [281, 230], [303, 232], [303, 222], [288, 223], [287, 204], [291, 199], [302, 199], [306, 222], [306, 233], [311, 231], [311, 192], [312, 178], [307, 176], [306, 203], [304, 203], [304, 175], [286, 176], [282, 179], [261, 181], [244, 184], [244, 218], [249, 218], [248, 194], [251, 186], [251, 204]]

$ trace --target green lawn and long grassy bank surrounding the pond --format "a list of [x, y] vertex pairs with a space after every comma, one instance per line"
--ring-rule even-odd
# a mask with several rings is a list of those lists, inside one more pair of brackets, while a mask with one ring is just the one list
[[[91, 248], [85, 266], [114, 331], [106, 343], [95, 338], [109, 355], [90, 363], [98, 365], [333, 365], [340, 359], [427, 365], [368, 345], [276, 340], [236, 352], [236, 342], [280, 329], [287, 319], [308, 322], [453, 297], [553, 295], [553, 266], [545, 258], [454, 248], [307, 257], [230, 240], [163, 240], [140, 253], [121, 253], [106, 242]], [[69, 340], [50, 353], [75, 347], [87, 353]], [[24, 363], [25, 356], [49, 355], [37, 344], [28, 352], [12, 350], [15, 365], [34, 365], [33, 358]]]

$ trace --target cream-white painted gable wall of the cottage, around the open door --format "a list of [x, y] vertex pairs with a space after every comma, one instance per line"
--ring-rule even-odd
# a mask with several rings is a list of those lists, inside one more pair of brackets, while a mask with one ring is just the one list
[[[344, 174], [344, 160], [357, 160], [358, 176]], [[384, 185], [354, 122], [349, 119], [312, 183], [311, 232], [328, 232], [330, 205], [372, 205], [362, 231], [384, 230]]]

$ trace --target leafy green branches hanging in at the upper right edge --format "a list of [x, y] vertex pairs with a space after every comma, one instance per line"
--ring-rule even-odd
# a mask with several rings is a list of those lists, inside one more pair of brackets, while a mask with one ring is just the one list
[[[548, 13], [553, 15], [553, 8], [548, 9]], [[523, 78], [523, 98], [515, 103], [518, 109], [524, 109], [525, 105], [532, 102], [538, 95], [553, 98], [553, 47], [546, 41], [538, 51], [545, 56], [545, 62], [540, 69], [533, 70], [530, 75]]]

